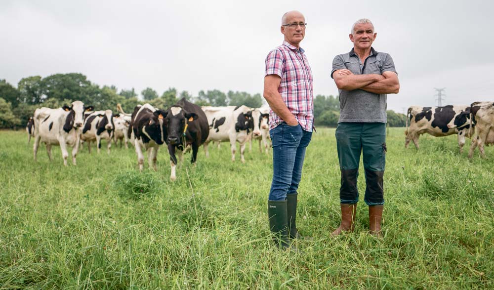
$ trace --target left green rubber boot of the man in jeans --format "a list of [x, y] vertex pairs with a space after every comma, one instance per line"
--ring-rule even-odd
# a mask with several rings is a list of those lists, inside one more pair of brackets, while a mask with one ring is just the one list
[[290, 247], [288, 238], [287, 201], [268, 201], [269, 229], [273, 242], [281, 249]]

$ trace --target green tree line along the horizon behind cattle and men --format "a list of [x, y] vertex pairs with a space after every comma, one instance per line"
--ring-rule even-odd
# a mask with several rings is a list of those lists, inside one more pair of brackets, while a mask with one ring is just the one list
[[[17, 87], [5, 80], [0, 80], [0, 127], [16, 128], [25, 126], [33, 116], [36, 108], [57, 108], [80, 100], [84, 104], [93, 105], [97, 110], [115, 110], [118, 103], [126, 112], [132, 112], [137, 104], [150, 103], [166, 109], [177, 100], [185, 97], [200, 106], [240, 106], [251, 108], [261, 107], [261, 94], [250, 94], [242, 91], [201, 90], [197, 96], [188, 91], [178, 92], [169, 87], [161, 95], [151, 87], [141, 91], [142, 99], [134, 88], [117, 89], [115, 85], [99, 86], [91, 83], [80, 73], [55, 74], [41, 78], [33, 76], [23, 78]], [[390, 126], [405, 126], [405, 115], [388, 111]], [[339, 100], [332, 95], [317, 95], [314, 98], [314, 117], [316, 125], [336, 126], [339, 118]]]

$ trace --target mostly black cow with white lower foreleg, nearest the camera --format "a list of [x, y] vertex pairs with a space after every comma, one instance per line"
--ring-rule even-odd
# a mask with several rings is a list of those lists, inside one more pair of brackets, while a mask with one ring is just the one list
[[167, 132], [166, 143], [170, 154], [170, 179], [174, 181], [176, 179], [175, 167], [177, 165], [175, 152], [178, 153], [180, 160], [182, 160], [183, 151], [187, 146], [191, 146], [191, 163], [195, 165], [199, 146], [206, 142], [209, 135], [209, 126], [206, 114], [201, 110], [201, 107], [187, 101], [185, 98], [179, 100], [166, 111], [165, 124]]

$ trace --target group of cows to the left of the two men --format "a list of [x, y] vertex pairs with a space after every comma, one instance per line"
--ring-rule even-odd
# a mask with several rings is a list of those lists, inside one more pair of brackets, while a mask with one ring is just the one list
[[184, 98], [166, 111], [150, 104], [137, 105], [131, 114], [125, 113], [120, 105], [117, 110], [118, 113], [112, 110], [94, 111], [93, 106], [81, 101], [57, 109], [36, 109], [26, 127], [29, 141], [31, 136], [34, 137], [34, 159], [37, 158], [40, 142], [46, 145], [50, 160], [51, 146], [59, 145], [64, 165], [67, 166], [67, 146], [72, 146], [72, 163], [76, 165], [76, 156], [83, 145], [90, 153], [91, 143], [95, 142], [99, 153], [101, 140], [105, 139], [109, 154], [112, 141], [116, 144], [120, 141], [121, 146], [124, 143], [125, 148], [128, 148], [127, 143], [133, 145], [140, 170], [144, 165], [143, 151], [147, 151], [149, 166], [156, 170], [158, 149], [165, 145], [170, 156], [170, 179], [175, 180], [176, 156], [182, 161], [182, 153], [192, 150], [191, 162], [195, 164], [201, 145], [208, 157], [207, 146], [210, 142], [217, 142], [219, 146], [219, 142], [229, 141], [232, 161], [235, 161], [236, 143], [239, 142], [243, 163], [248, 141], [252, 144], [252, 139], [259, 140], [261, 152], [261, 142], [266, 153], [271, 146], [268, 107], [199, 107]]

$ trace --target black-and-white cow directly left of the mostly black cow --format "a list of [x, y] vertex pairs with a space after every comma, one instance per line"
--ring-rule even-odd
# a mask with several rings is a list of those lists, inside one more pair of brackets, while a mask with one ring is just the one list
[[150, 104], [137, 105], [134, 108], [127, 137], [134, 135], [134, 147], [140, 171], [144, 168], [142, 149], [148, 151], [149, 167], [156, 170], [158, 149], [166, 140], [165, 116], [165, 111], [156, 109]]

